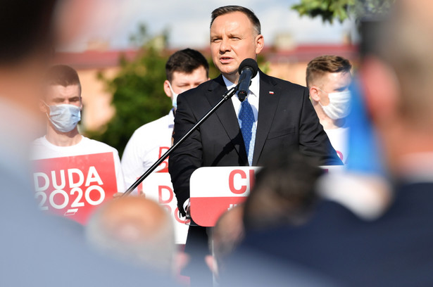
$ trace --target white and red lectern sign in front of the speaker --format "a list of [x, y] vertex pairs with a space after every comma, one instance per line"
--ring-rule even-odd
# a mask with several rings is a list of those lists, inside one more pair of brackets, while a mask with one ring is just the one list
[[260, 167], [201, 167], [189, 181], [191, 217], [202, 227], [213, 227], [222, 213], [243, 203]]

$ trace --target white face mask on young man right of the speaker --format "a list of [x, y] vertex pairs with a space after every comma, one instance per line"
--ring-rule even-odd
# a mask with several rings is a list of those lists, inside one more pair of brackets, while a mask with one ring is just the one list
[[[321, 90], [322, 91], [322, 90]], [[326, 92], [325, 92], [326, 93]], [[337, 93], [328, 93], [330, 103], [327, 106], [322, 106], [325, 114], [332, 120], [338, 120], [347, 117], [351, 112], [351, 92], [339, 91]]]

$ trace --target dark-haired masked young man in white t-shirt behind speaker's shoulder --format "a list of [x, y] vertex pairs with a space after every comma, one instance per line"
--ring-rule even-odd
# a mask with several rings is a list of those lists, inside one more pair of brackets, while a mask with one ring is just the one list
[[[139, 127], [132, 134], [122, 156], [125, 184], [131, 186], [146, 170], [172, 146], [172, 132], [176, 113], [177, 95], [206, 82], [209, 65], [206, 58], [196, 50], [184, 49], [173, 53], [165, 64], [167, 79], [165, 94], [172, 100], [168, 115]], [[168, 172], [168, 159], [156, 172]]]

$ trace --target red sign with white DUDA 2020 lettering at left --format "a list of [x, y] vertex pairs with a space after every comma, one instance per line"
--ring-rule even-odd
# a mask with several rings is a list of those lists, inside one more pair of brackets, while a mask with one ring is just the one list
[[34, 166], [39, 208], [81, 224], [117, 192], [113, 153], [34, 160]]

